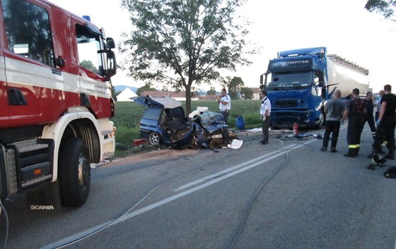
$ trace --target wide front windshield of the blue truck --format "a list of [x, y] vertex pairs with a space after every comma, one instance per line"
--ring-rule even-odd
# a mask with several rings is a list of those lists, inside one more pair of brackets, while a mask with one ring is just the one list
[[272, 73], [272, 81], [267, 83], [267, 90], [301, 90], [313, 83], [313, 72]]

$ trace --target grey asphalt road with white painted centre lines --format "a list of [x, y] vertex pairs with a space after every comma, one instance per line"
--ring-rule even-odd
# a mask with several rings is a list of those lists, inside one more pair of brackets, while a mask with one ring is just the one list
[[93, 169], [80, 208], [6, 200], [7, 248], [396, 248], [396, 180], [365, 169], [367, 128], [356, 159], [342, 157], [345, 126], [337, 153], [311, 136], [239, 136], [240, 150], [160, 150]]

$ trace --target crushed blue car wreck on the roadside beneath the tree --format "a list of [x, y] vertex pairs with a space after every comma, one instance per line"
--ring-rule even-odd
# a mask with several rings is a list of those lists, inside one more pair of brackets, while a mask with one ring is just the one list
[[182, 103], [166, 97], [134, 97], [145, 113], [139, 123], [139, 135], [151, 145], [166, 145], [176, 149], [221, 147], [236, 138], [228, 130], [223, 115], [199, 107], [189, 117]]

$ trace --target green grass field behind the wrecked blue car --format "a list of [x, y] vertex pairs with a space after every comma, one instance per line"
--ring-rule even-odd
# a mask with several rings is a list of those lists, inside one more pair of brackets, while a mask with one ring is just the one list
[[[185, 108], [185, 102], [182, 102], [182, 104]], [[235, 117], [243, 116], [245, 128], [260, 127], [260, 104], [260, 100], [233, 100], [228, 125], [236, 128]], [[192, 110], [197, 109], [197, 107], [209, 107], [210, 111], [219, 112], [219, 104], [216, 101], [193, 101], [191, 105]], [[134, 139], [139, 138], [139, 121], [145, 110], [135, 102], [116, 102], [115, 107], [115, 117], [111, 120], [117, 127], [116, 141], [122, 148], [128, 148]], [[120, 150], [120, 148], [117, 148], [117, 150]], [[120, 151], [116, 151], [116, 157], [117, 154], [120, 154]]]

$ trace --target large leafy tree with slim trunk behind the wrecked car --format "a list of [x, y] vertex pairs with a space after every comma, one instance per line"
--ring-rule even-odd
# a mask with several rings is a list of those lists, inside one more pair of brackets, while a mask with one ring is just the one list
[[[248, 23], [235, 16], [246, 0], [122, 0], [133, 30], [119, 49], [136, 80], [161, 82], [186, 91], [191, 111], [193, 85], [221, 80], [220, 71], [235, 71], [251, 62], [245, 36]], [[234, 23], [233, 20], [238, 20]]]

